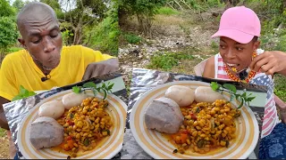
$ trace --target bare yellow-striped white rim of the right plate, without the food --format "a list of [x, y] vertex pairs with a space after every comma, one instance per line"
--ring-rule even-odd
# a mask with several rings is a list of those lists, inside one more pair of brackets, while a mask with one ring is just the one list
[[[171, 158], [190, 158], [190, 159], [242, 159], [247, 158], [250, 153], [256, 148], [259, 135], [257, 118], [252, 110], [248, 107], [241, 108], [241, 116], [236, 119], [237, 138], [232, 140], [229, 148], [220, 148], [210, 153], [198, 154], [189, 152], [187, 154], [172, 154], [175, 147], [169, 142], [160, 132], [148, 130], [144, 121], [144, 113], [147, 106], [152, 100], [164, 96], [164, 92], [172, 85], [189, 86], [191, 89], [196, 89], [198, 86], [209, 86], [210, 84], [198, 81], [180, 81], [168, 84], [162, 84], [155, 89], [145, 93], [134, 104], [130, 114], [130, 129], [131, 132], [148, 155], [156, 159], [171, 159]], [[229, 98], [230, 95], [223, 95]], [[235, 102], [235, 106], [238, 106]]]

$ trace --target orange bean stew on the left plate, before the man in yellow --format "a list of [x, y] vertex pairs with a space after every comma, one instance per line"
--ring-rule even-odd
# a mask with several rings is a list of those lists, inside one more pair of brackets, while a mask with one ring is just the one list
[[90, 97], [83, 100], [80, 106], [66, 110], [57, 119], [64, 127], [64, 140], [60, 148], [75, 157], [79, 151], [91, 150], [99, 140], [109, 136], [113, 122], [106, 112], [107, 106], [107, 100]]

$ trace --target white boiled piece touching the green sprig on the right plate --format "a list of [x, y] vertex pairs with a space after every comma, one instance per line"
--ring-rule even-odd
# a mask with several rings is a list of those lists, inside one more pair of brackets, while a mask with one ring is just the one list
[[199, 86], [195, 91], [195, 100], [197, 102], [213, 103], [215, 100], [224, 100], [224, 98], [221, 93], [214, 92], [211, 87]]

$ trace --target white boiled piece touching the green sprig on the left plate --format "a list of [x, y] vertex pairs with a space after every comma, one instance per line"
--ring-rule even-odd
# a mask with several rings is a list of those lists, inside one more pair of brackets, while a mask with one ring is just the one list
[[79, 106], [82, 100], [87, 99], [89, 96], [85, 93], [75, 93], [71, 92], [68, 94], [65, 94], [63, 96], [63, 106], [66, 109], [70, 109], [75, 106]]

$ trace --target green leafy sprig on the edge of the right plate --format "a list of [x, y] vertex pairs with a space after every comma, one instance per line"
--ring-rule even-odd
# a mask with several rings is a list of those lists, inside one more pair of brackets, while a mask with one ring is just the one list
[[231, 93], [231, 100], [233, 100], [235, 98], [236, 100], [240, 101], [240, 106], [238, 108], [241, 108], [243, 106], [243, 104], [246, 104], [249, 106], [249, 102], [256, 98], [256, 97], [250, 97], [251, 93], [247, 95], [246, 90], [243, 90], [242, 94], [237, 93], [236, 87], [232, 84], [223, 84], [222, 85], [222, 84], [217, 84], [216, 82], [212, 82], [211, 87], [215, 92], [220, 92], [220, 93], [229, 92], [229, 93]]

